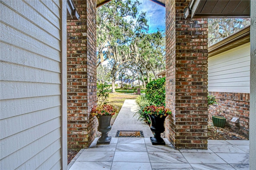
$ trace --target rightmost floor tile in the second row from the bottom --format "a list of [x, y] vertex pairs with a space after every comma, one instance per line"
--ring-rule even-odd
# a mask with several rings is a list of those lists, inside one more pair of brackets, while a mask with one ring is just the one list
[[228, 164], [249, 164], [249, 154], [216, 153]]

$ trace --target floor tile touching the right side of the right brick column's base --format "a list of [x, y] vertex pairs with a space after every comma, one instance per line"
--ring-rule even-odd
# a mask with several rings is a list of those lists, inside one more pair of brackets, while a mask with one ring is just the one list
[[246, 153], [234, 145], [208, 145], [214, 153]]

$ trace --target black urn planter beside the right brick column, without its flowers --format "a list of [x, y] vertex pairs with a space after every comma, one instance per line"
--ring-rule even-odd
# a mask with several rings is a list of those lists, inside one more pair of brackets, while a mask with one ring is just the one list
[[164, 139], [161, 138], [161, 133], [164, 132], [164, 120], [166, 116], [160, 118], [160, 116], [148, 115], [151, 120], [150, 129], [154, 134], [154, 137], [150, 137], [153, 145], [165, 145]]

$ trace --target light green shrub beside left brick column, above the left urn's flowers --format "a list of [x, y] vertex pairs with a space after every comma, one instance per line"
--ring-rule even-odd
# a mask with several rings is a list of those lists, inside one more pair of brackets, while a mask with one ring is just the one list
[[108, 85], [97, 83], [97, 104], [102, 105], [108, 103]]

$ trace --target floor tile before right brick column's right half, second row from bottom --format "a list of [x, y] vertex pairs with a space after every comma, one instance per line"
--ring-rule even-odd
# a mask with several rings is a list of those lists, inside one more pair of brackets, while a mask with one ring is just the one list
[[214, 153], [182, 153], [190, 164], [226, 164]]

